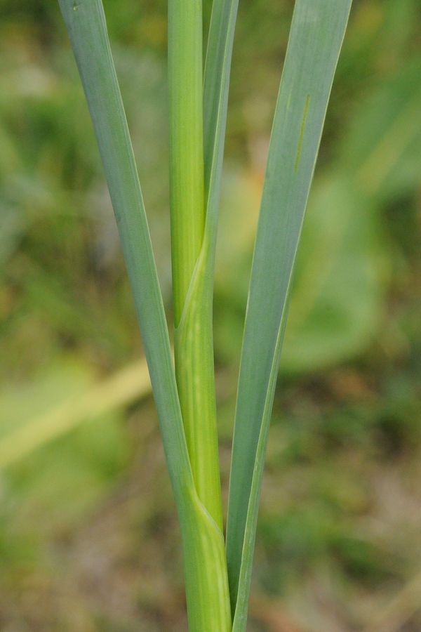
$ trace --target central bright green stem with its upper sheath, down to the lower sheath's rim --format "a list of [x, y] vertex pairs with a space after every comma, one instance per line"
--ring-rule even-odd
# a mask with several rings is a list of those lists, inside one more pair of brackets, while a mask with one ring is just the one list
[[201, 1], [169, 0], [175, 374], [197, 494], [222, 530], [212, 298], [206, 274], [202, 30]]

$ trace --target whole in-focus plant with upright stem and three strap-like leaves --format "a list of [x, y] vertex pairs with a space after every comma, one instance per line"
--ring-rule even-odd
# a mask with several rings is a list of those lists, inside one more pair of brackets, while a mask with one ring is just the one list
[[[124, 0], [121, 0], [122, 2]], [[102, 0], [59, 0], [98, 140], [180, 519], [190, 632], [245, 632], [288, 299], [352, 0], [296, 0], [255, 238], [226, 538], [213, 367], [213, 272], [238, 0], [168, 0], [175, 361]]]

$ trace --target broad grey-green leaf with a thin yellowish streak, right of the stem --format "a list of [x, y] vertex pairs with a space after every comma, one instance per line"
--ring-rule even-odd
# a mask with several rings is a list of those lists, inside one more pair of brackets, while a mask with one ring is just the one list
[[288, 296], [326, 107], [352, 0], [297, 0], [276, 104], [241, 355], [227, 564], [235, 632], [246, 629], [260, 482]]

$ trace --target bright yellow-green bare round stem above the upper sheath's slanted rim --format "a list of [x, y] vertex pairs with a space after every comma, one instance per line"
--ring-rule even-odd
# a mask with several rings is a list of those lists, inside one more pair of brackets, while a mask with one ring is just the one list
[[200, 0], [168, 1], [171, 249], [175, 327], [205, 228]]

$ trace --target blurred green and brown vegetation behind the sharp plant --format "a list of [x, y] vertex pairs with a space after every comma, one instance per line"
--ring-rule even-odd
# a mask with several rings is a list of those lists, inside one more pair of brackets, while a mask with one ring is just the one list
[[[171, 321], [166, 6], [104, 4]], [[225, 500], [292, 10], [241, 0], [236, 29], [215, 279]], [[420, 0], [354, 0], [290, 306], [250, 632], [421, 630], [420, 20]], [[0, 630], [185, 631], [142, 343], [53, 0], [1, 0], [0, 261]]]

